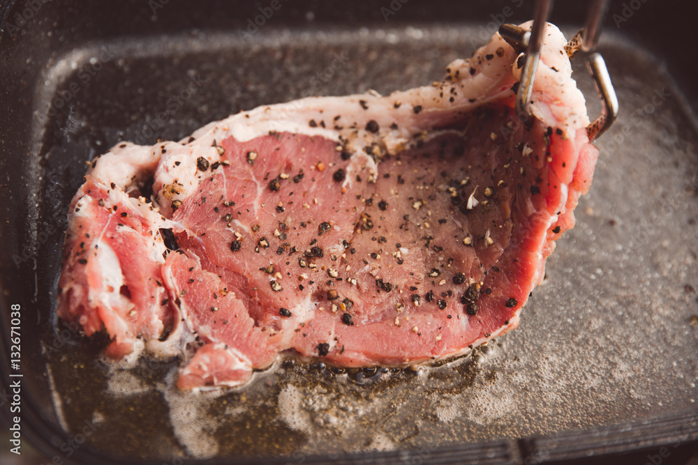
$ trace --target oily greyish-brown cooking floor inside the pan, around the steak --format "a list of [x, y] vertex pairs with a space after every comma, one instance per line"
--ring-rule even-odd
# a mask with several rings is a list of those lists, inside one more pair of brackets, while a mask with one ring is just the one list
[[[622, 113], [598, 144], [577, 227], [558, 241], [521, 326], [473, 356], [375, 374], [288, 360], [244, 388], [193, 395], [172, 388], [178, 360], [106, 363], [104, 340], [50, 329], [65, 215], [84, 162], [121, 140], [179, 139], [258, 105], [428, 84], [490, 33], [469, 24], [269, 29], [244, 40], [188, 31], [55, 57], [34, 94], [43, 162], [25, 174], [36, 229], [17, 246], [36, 257], [36, 304], [24, 306], [36, 312], [43, 356], [27, 367], [45, 374], [35, 389], [53, 393], [39, 401], [45, 420], [71, 434], [89, 422], [86, 447], [112, 457], [300, 462], [698, 415], [698, 126], [667, 71], [611, 34], [602, 52]], [[593, 115], [595, 93], [575, 65]], [[191, 82], [195, 92], [182, 93]]]

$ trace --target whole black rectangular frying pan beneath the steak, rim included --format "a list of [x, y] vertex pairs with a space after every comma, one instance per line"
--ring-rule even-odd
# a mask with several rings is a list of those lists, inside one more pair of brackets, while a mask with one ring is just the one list
[[[264, 1], [5, 3], [3, 360], [11, 305], [20, 305], [22, 439], [50, 457], [542, 463], [655, 446], [677, 459], [695, 445], [697, 93], [695, 54], [678, 47], [690, 44], [682, 34], [695, 6], [611, 3], [600, 51], [621, 116], [598, 142], [577, 227], [558, 243], [517, 330], [422, 372], [287, 360], [249, 386], [195, 397], [167, 387], [178, 360], [114, 367], [101, 358], [104, 337], [54, 321], [84, 162], [121, 140], [179, 139], [266, 103], [431, 82], [533, 6], [283, 1], [266, 17]], [[558, 2], [551, 21], [571, 36], [585, 15]], [[577, 68], [594, 116], [595, 93]], [[192, 79], [203, 84], [183, 96]], [[8, 390], [17, 371], [0, 365]]]

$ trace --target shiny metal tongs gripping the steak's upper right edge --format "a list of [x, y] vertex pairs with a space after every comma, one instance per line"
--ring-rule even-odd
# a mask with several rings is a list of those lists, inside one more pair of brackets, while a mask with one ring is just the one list
[[[536, 1], [533, 12], [533, 27], [530, 32], [514, 24], [503, 24], [499, 28], [500, 35], [514, 49], [520, 52], [526, 50], [526, 61], [521, 72], [521, 82], [517, 91], [516, 104], [517, 115], [524, 123], [530, 123], [533, 118], [530, 112], [530, 96], [533, 93], [535, 70], [540, 60], [540, 45], [542, 43], [543, 31], [552, 3], [552, 0]], [[586, 69], [591, 75], [594, 87], [601, 99], [601, 114], [586, 128], [590, 142], [610, 128], [618, 116], [618, 98], [611, 83], [606, 62], [600, 53], [595, 52], [601, 33], [601, 20], [606, 13], [606, 8], [607, 0], [594, 0], [591, 10], [589, 10], [586, 26], [565, 47], [570, 59], [580, 50], [586, 55]]]

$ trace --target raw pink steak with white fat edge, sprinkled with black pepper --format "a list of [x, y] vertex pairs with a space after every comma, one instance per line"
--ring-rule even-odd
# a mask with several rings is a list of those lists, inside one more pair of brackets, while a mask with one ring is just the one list
[[597, 160], [565, 43], [548, 25], [528, 126], [523, 60], [495, 34], [431, 86], [114, 146], [70, 207], [59, 317], [106, 330], [112, 358], [181, 356], [183, 389], [284, 354], [404, 366], [503, 335]]

